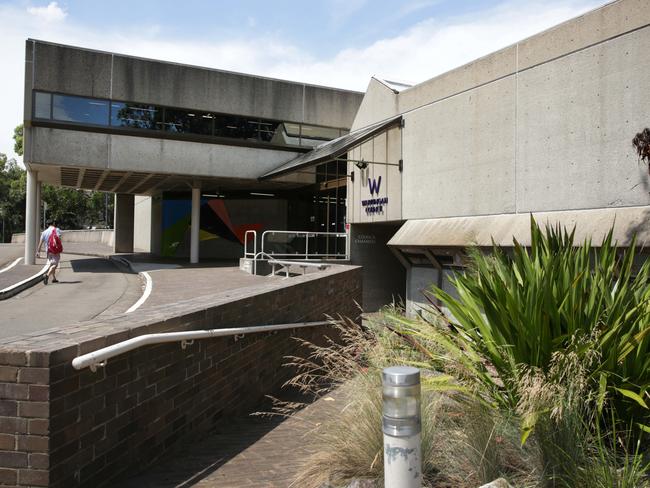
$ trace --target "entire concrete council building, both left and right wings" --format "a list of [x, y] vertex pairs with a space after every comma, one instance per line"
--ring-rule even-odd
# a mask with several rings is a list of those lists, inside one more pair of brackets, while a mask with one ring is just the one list
[[[530, 214], [577, 225], [579, 238], [593, 235], [595, 242], [614, 221], [622, 245], [635, 232], [642, 243], [650, 237], [647, 168], [631, 144], [650, 125], [649, 24], [647, 2], [615, 1], [416, 86], [373, 78], [363, 96], [28, 41], [30, 198], [38, 195], [34, 172], [42, 181], [115, 191], [118, 204], [127, 202], [118, 214], [133, 208], [122, 194], [154, 195], [137, 201], [136, 214], [150, 215], [152, 225], [135, 240], [157, 251], [161, 191], [193, 186], [197, 199], [199, 185], [286, 195], [309, 187], [312, 203], [330, 217], [275, 198], [275, 213], [284, 215], [286, 203], [287, 218], [272, 224], [346, 225], [352, 263], [364, 266], [364, 306], [402, 297], [415, 310], [423, 287], [448, 287], [465, 247], [527, 242]], [[59, 94], [106, 101], [110, 123], [55, 121]], [[163, 119], [146, 115], [158, 105], [175, 108], [165, 108]], [[276, 129], [263, 141], [257, 129], [254, 142], [235, 143], [214, 123], [213, 139], [194, 141], [170, 132], [171, 125], [154, 132], [113, 124], [115, 117], [174, 124], [167, 113], [176, 107], [265, 118], [276, 128], [305, 124], [320, 138], [301, 146], [304, 132]], [[303, 147], [316, 140], [317, 147]], [[328, 197], [321, 202], [318, 192]], [[248, 199], [242, 208], [250, 210]], [[128, 247], [132, 238], [123, 235]]]

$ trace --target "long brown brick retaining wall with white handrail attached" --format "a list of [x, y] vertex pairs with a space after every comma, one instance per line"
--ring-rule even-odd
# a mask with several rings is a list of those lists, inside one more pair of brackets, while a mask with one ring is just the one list
[[225, 416], [254, 409], [290, 376], [292, 337], [318, 342], [327, 326], [147, 346], [93, 373], [74, 357], [130, 337], [356, 317], [360, 268], [269, 280], [14, 338], [0, 348], [0, 485], [102, 486], [135, 472]]

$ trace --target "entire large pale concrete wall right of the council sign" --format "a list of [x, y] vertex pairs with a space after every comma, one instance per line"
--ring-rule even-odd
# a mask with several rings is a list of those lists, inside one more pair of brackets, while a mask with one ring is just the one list
[[[613, 2], [396, 95], [401, 217], [649, 205], [631, 144], [648, 125], [648, 23], [647, 2]], [[355, 127], [391, 114], [373, 86]]]

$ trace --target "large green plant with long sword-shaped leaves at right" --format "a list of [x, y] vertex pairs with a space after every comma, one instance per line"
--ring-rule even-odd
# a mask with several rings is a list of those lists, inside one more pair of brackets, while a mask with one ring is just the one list
[[[588, 372], [599, 408], [605, 401], [625, 425], [648, 423], [650, 399], [650, 262], [633, 272], [635, 245], [617, 249], [610, 231], [599, 249], [574, 243], [574, 231], [547, 228], [531, 219], [532, 242], [514, 243], [512, 254], [494, 247], [470, 254], [468, 269], [452, 280], [454, 298], [440, 298], [454, 317], [465, 356], [480, 370], [486, 361], [495, 375], [479, 378], [501, 405], [516, 408], [522, 397], [521, 365], [548, 372], [553, 354], [575, 345], [598, 360]], [[580, 342], [580, 341], [578, 341]]]

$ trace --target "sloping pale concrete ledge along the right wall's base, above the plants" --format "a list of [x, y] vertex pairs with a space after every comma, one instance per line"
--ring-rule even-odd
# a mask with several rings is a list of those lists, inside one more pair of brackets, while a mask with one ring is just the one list
[[[650, 244], [650, 206], [569, 210], [533, 213], [544, 225], [576, 227], [575, 242], [591, 238], [599, 246], [612, 227], [614, 240], [627, 246], [637, 234], [637, 245]], [[449, 217], [407, 221], [388, 242], [389, 246], [407, 247], [491, 247], [492, 240], [500, 246], [512, 246], [516, 238], [530, 245], [530, 214], [501, 214], [476, 217]]]

